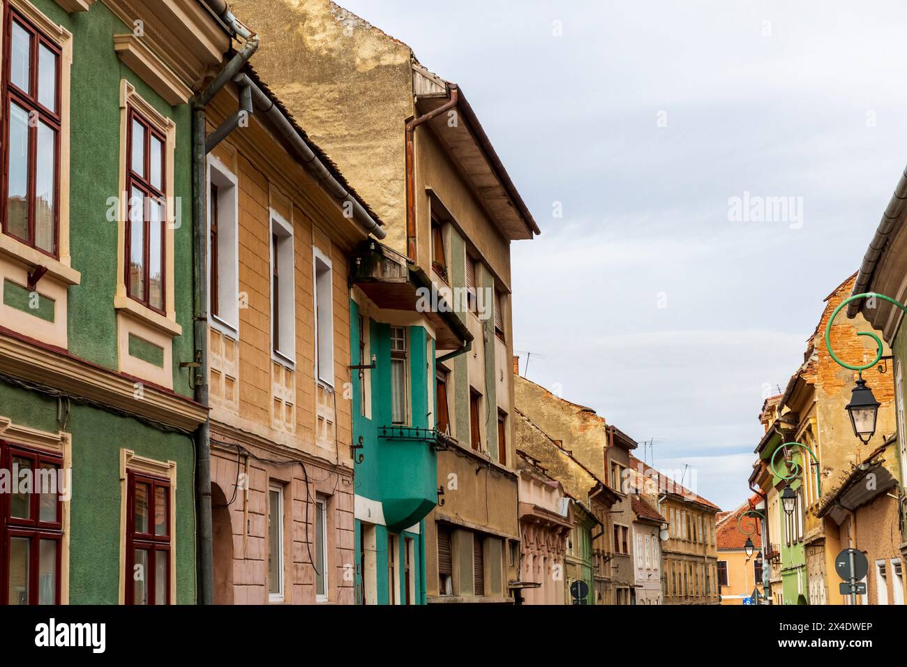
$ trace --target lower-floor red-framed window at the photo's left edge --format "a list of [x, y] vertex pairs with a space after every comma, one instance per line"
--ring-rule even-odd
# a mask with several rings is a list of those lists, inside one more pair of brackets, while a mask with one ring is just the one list
[[12, 488], [0, 496], [0, 604], [59, 604], [63, 457], [0, 441]]

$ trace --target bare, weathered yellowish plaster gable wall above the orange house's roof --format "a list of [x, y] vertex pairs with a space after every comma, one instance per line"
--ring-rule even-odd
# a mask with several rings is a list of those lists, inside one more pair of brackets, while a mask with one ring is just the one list
[[405, 252], [410, 48], [327, 0], [231, 0], [261, 37], [252, 66]]

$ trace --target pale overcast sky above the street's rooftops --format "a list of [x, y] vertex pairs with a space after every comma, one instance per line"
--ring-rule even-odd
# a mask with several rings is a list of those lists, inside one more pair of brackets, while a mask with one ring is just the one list
[[[766, 386], [803, 361], [907, 161], [907, 6], [341, 4], [461, 85], [539, 223], [512, 245], [528, 377], [743, 502]], [[792, 199], [735, 216], [745, 192]]]

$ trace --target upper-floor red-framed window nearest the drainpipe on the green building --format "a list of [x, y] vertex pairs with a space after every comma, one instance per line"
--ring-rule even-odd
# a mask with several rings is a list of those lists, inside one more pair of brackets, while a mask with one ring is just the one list
[[126, 130], [126, 293], [164, 312], [167, 200], [164, 134], [130, 107]]

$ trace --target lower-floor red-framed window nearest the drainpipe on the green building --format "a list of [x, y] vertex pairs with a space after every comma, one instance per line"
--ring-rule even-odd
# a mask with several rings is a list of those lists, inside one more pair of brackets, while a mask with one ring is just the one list
[[171, 484], [127, 475], [126, 603], [170, 604]]

